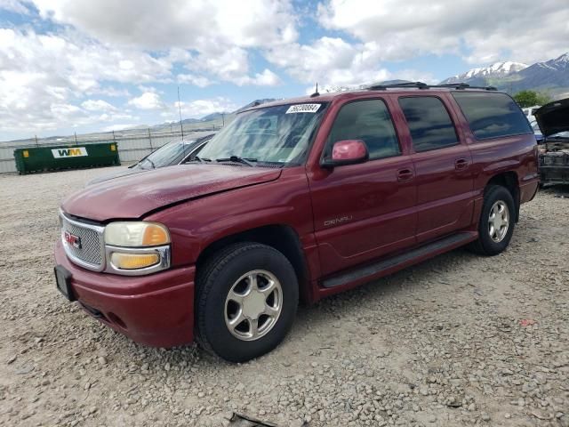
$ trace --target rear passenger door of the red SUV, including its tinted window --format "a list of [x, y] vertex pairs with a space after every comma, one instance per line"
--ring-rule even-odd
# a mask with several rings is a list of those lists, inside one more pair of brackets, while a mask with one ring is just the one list
[[472, 157], [453, 112], [436, 95], [402, 95], [398, 104], [413, 142], [417, 243], [468, 227], [474, 211]]

